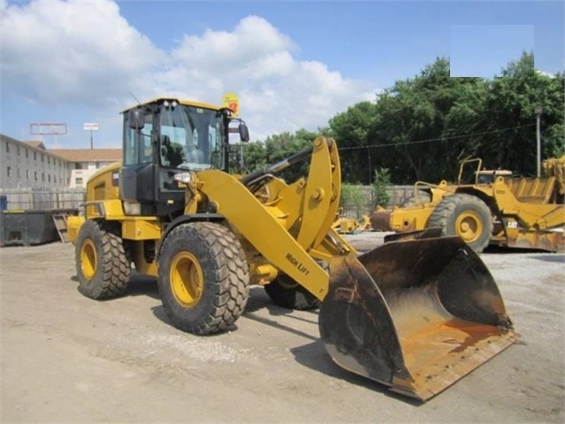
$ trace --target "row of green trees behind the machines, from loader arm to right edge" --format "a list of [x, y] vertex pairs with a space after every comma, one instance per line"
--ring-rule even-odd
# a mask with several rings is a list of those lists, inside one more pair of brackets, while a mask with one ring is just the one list
[[[542, 159], [565, 153], [564, 74], [539, 73], [533, 63], [533, 53], [523, 52], [489, 81], [452, 78], [449, 60], [436, 58], [414, 78], [378, 93], [374, 102], [337, 113], [317, 132], [301, 129], [249, 143], [245, 164], [254, 171], [325, 135], [338, 143], [342, 180], [349, 183], [380, 183], [382, 170], [395, 184], [454, 181], [466, 158], [482, 158], [489, 168], [533, 174], [538, 106], [543, 108]], [[306, 167], [294, 166], [285, 178], [304, 173]]]

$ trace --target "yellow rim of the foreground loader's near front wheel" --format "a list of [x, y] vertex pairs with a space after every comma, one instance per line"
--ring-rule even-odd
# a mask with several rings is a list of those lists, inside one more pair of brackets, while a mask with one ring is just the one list
[[180, 305], [192, 308], [198, 304], [204, 291], [204, 275], [194, 255], [183, 251], [172, 259], [169, 281], [172, 295]]

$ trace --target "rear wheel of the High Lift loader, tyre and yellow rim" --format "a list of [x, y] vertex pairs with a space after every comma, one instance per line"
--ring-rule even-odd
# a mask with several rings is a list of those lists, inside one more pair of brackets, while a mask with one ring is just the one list
[[122, 239], [103, 223], [87, 220], [75, 243], [79, 291], [95, 300], [119, 297], [126, 292], [131, 274]]

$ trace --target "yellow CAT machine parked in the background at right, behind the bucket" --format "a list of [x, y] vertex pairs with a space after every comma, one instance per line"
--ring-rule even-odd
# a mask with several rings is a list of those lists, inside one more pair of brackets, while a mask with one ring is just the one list
[[[473, 181], [465, 170], [475, 168]], [[417, 181], [414, 196], [392, 209], [378, 207], [371, 226], [404, 233], [439, 227], [459, 235], [480, 253], [489, 244], [511, 248], [565, 250], [565, 157], [547, 159], [546, 175], [515, 177], [481, 170], [481, 159], [464, 161], [456, 184]], [[468, 172], [469, 173], [469, 172]]]

